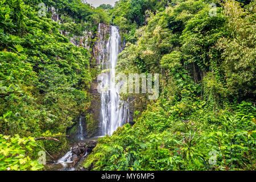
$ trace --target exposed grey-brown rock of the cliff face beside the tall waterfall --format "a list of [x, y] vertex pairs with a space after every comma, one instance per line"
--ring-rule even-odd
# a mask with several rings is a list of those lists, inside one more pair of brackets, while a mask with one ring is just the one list
[[[51, 18], [53, 21], [61, 24], [63, 21], [61, 19], [61, 14], [58, 13], [58, 9], [55, 7], [48, 7], [47, 12], [51, 14]], [[87, 48], [91, 53], [91, 67], [92, 68], [100, 68], [106, 69], [106, 64], [108, 63], [109, 55], [108, 55], [108, 43], [110, 36], [110, 25], [100, 23], [98, 24], [97, 34], [92, 34], [90, 31], [82, 32], [82, 36], [72, 35], [71, 32], [60, 30], [61, 34], [69, 38], [69, 42], [71, 42], [75, 46], [81, 46]], [[72, 35], [72, 36], [70, 36]], [[96, 39], [94, 45], [90, 44], [88, 40]], [[125, 41], [120, 46], [120, 51], [125, 47]], [[93, 137], [98, 135], [99, 125], [100, 125], [100, 109], [101, 109], [101, 96], [97, 90], [97, 79], [93, 80], [90, 85], [89, 97], [90, 97], [90, 106], [86, 109], [85, 113], [81, 113], [82, 115], [86, 115], [83, 123], [86, 125], [84, 127], [85, 136], [84, 137]], [[133, 121], [133, 109], [130, 110], [130, 118], [129, 123]], [[75, 121], [76, 122], [76, 121]], [[70, 136], [69, 139], [71, 141], [77, 140], [77, 130], [78, 123], [68, 129], [67, 134]]]

